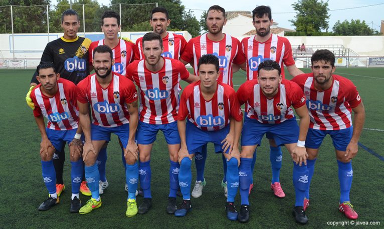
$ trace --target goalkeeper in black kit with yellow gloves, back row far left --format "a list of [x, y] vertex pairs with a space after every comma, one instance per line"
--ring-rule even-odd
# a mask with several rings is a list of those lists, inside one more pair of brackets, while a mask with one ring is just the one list
[[[53, 62], [55, 69], [60, 73], [61, 78], [68, 79], [75, 84], [80, 82], [88, 75], [88, 47], [92, 42], [88, 38], [80, 37], [77, 31], [80, 27], [79, 15], [73, 9], [67, 9], [61, 16], [61, 27], [64, 29], [64, 35], [47, 44], [44, 49], [41, 61]], [[37, 72], [31, 80], [31, 87], [27, 93], [27, 104], [34, 109], [34, 103], [30, 98], [31, 90], [39, 83], [36, 79]], [[63, 168], [65, 161], [63, 148], [56, 148], [53, 155], [53, 161], [56, 170], [56, 189], [58, 195], [64, 190]], [[83, 181], [80, 191], [84, 195], [91, 195], [87, 183]]]

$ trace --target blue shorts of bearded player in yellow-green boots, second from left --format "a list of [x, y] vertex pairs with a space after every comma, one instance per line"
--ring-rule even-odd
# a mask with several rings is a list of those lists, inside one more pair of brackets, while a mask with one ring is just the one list
[[127, 147], [129, 138], [129, 123], [119, 125], [116, 127], [104, 127], [99, 125], [91, 124], [91, 139], [92, 140], [111, 140], [111, 133], [116, 134], [119, 138], [123, 147]]

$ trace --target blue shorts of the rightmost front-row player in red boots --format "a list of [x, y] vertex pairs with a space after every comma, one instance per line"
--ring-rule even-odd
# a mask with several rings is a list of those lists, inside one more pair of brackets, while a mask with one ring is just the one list
[[352, 126], [339, 130], [319, 130], [309, 128], [307, 138], [305, 139], [305, 147], [319, 148], [325, 135], [329, 134], [332, 138], [333, 146], [339, 151], [345, 151], [352, 138], [352, 132]]

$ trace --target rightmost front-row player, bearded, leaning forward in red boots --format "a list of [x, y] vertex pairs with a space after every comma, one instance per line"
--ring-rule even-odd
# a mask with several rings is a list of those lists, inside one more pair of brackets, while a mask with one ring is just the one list
[[[339, 210], [350, 219], [358, 217], [349, 201], [352, 185], [352, 158], [356, 155], [357, 142], [364, 124], [365, 110], [356, 86], [347, 78], [333, 74], [335, 56], [327, 50], [317, 50], [311, 57], [312, 73], [301, 74], [292, 79], [299, 84], [307, 98], [311, 123], [305, 147], [308, 152], [308, 188], [304, 209], [309, 205], [311, 183], [319, 147], [329, 134], [335, 146], [340, 182]], [[353, 111], [353, 127], [351, 110]]]

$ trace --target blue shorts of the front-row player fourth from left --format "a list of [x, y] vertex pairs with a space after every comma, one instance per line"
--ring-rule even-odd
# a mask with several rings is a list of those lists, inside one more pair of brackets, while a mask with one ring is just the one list
[[[208, 142], [215, 144], [215, 152], [223, 152], [223, 143], [221, 143], [221, 141], [224, 140], [228, 133], [229, 125], [217, 131], [206, 131], [196, 127], [194, 123], [186, 121], [185, 138], [189, 154], [201, 152], [203, 145]], [[226, 153], [228, 153], [228, 151], [229, 148]]]

